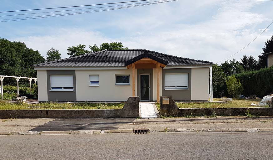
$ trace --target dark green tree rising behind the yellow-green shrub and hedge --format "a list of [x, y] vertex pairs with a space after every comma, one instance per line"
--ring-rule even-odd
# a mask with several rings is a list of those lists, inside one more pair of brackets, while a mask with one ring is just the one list
[[226, 60], [224, 63], [221, 63], [221, 68], [223, 69], [226, 76], [235, 75], [244, 71], [243, 66], [236, 61], [235, 59]]

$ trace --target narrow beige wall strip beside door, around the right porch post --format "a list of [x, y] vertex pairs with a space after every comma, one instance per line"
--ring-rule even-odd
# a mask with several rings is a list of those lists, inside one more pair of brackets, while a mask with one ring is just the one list
[[[162, 96], [162, 68], [159, 71], [159, 96]], [[153, 101], [157, 101], [157, 70], [153, 69]]]

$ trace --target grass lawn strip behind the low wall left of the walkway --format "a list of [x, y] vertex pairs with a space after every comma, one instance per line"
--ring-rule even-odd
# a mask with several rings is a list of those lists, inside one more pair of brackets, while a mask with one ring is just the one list
[[53, 110], [53, 109], [122, 109], [125, 103], [8, 103], [0, 102], [0, 110]]

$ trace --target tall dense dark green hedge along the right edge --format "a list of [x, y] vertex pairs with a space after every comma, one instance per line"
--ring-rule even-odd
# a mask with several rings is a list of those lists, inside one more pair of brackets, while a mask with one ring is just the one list
[[256, 95], [262, 98], [273, 92], [273, 66], [257, 71], [248, 71], [236, 75], [241, 80], [243, 95]]

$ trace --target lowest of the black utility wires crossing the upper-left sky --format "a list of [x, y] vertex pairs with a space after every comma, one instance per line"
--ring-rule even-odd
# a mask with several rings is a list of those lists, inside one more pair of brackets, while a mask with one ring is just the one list
[[41, 17], [41, 16], [34, 16], [33, 18], [13, 19], [13, 20], [0, 21], [0, 23], [1, 23], [1, 22], [10, 22], [10, 21], [21, 21], [21, 20], [27, 20], [27, 19], [39, 19], [39, 18], [49, 18], [49, 17], [60, 17], [60, 16], [75, 15], [75, 14], [83, 14], [83, 13], [94, 13], [94, 12], [110, 11], [110, 10], [117, 10], [117, 9], [124, 9], [124, 8], [132, 8], [132, 7], [138, 7], [138, 6], [146, 6], [146, 5], [152, 5], [152, 4], [158, 4], [158, 3], [166, 3], [166, 2], [172, 2], [172, 1], [177, 1], [177, 0], [169, 0], [169, 1], [164, 1], [164, 2], [148, 3], [148, 4], [141, 4], [141, 5], [127, 6], [127, 7], [119, 7], [119, 8], [111, 8], [111, 9], [102, 9], [102, 10], [93, 10], [93, 11], [85, 11], [85, 12], [62, 13], [62, 14], [56, 14], [56, 15], [44, 15], [43, 17]]

